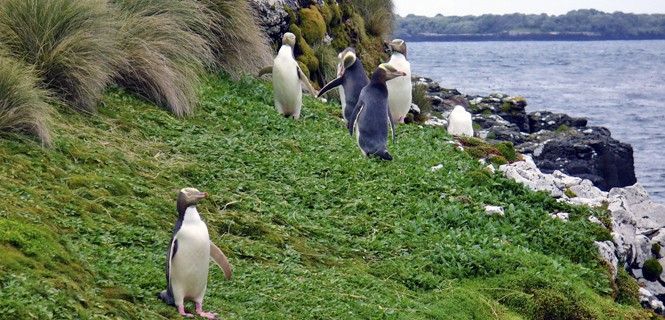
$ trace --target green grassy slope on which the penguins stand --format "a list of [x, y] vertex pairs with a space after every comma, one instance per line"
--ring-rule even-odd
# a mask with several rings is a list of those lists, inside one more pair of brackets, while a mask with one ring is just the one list
[[235, 266], [206, 297], [227, 319], [645, 316], [612, 302], [588, 212], [485, 174], [443, 130], [402, 126], [378, 162], [338, 106], [307, 98], [292, 121], [263, 83], [201, 90], [186, 120], [116, 91], [61, 112], [52, 149], [0, 140], [2, 316], [179, 318], [155, 293], [184, 186], [212, 195], [199, 210]]

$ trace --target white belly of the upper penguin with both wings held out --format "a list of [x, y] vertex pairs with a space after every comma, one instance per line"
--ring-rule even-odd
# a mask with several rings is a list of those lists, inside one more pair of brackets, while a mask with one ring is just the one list
[[302, 107], [302, 86], [298, 79], [298, 63], [291, 57], [277, 56], [272, 81], [277, 111], [285, 115], [299, 115]]

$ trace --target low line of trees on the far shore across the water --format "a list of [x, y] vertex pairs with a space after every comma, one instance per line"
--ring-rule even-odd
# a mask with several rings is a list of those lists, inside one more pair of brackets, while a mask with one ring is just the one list
[[601, 38], [665, 38], [665, 14], [575, 10], [565, 15], [506, 14], [398, 17], [395, 36], [579, 34]]

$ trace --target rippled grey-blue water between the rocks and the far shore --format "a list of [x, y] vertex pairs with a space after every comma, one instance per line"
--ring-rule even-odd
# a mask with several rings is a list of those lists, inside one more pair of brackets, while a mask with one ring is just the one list
[[665, 41], [411, 42], [413, 73], [462, 93], [586, 117], [633, 146], [637, 180], [665, 202]]

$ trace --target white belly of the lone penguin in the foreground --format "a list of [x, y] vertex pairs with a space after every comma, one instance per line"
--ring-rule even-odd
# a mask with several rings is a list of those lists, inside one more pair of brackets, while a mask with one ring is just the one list
[[208, 283], [210, 238], [203, 221], [183, 223], [176, 235], [178, 251], [171, 262], [171, 287], [175, 296], [202, 299]]

